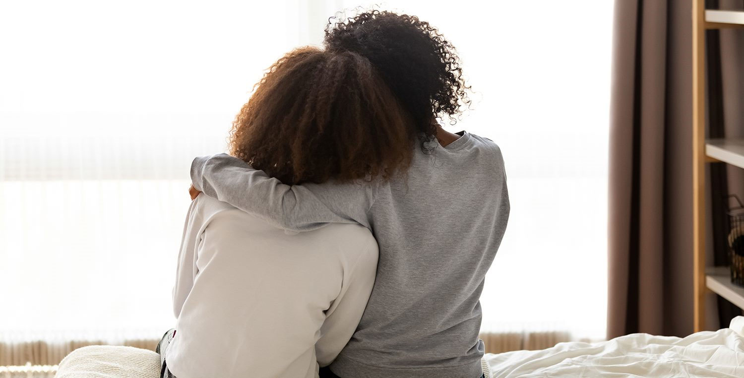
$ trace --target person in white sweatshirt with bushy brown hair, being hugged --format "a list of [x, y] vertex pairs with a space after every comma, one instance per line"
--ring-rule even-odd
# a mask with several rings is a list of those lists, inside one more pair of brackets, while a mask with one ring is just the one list
[[[283, 182], [356, 190], [405, 171], [417, 140], [411, 125], [365, 57], [300, 48], [257, 84], [230, 147]], [[179, 252], [176, 329], [157, 349], [162, 377], [316, 377], [362, 318], [377, 251], [362, 225], [288, 234], [199, 196]]]

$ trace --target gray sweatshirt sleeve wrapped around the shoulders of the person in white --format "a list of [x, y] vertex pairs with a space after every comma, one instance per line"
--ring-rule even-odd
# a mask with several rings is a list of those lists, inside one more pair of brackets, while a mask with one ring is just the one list
[[309, 231], [331, 222], [370, 228], [368, 211], [376, 182], [284, 185], [263, 170], [225, 153], [191, 163], [197, 190], [289, 231]]

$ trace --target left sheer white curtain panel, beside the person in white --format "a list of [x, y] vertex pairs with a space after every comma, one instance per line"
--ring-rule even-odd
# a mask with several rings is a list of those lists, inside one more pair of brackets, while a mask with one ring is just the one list
[[298, 45], [298, 3], [0, 5], [0, 333], [173, 325], [190, 160]]

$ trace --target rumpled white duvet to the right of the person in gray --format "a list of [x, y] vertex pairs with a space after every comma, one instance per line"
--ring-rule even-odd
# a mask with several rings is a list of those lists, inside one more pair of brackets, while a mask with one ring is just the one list
[[491, 377], [744, 377], [744, 317], [680, 339], [636, 333], [608, 342], [484, 356]]

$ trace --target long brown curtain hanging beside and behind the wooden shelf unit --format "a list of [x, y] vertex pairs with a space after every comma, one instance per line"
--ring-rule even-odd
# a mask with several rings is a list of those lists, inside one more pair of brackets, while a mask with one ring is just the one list
[[[728, 135], [724, 108], [734, 107], [725, 105], [725, 98], [733, 89], [724, 91], [722, 71], [724, 76], [726, 67], [734, 71], [734, 62], [722, 62], [726, 49], [719, 47], [717, 32], [708, 39], [708, 124], [712, 136]], [[727, 48], [733, 44], [721, 39]], [[608, 338], [693, 331], [691, 54], [691, 0], [615, 1]], [[725, 54], [723, 58], [730, 60]], [[708, 225], [708, 261], [716, 263], [722, 263], [720, 254], [725, 253], [725, 246], [711, 240], [727, 228], [727, 205], [721, 199], [731, 187], [726, 172], [722, 165], [708, 167], [706, 202], [713, 215], [708, 219], [716, 220]], [[722, 309], [732, 310], [731, 305], [718, 300], [716, 307], [710, 297], [708, 327], [725, 327], [731, 314]]]

